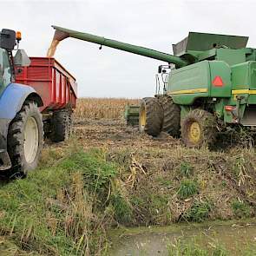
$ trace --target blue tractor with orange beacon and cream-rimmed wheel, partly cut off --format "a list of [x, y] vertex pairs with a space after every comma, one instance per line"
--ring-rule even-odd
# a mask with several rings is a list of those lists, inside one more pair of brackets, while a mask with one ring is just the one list
[[20, 40], [14, 30], [0, 33], [0, 174], [27, 174], [36, 168], [43, 146], [43, 101], [35, 89], [15, 82], [19, 67], [30, 65], [25, 51], [18, 49]]

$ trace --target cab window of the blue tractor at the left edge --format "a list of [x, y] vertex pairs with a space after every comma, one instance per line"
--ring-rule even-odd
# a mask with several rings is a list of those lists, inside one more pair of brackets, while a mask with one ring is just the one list
[[11, 70], [8, 53], [0, 49], [0, 89], [6, 87], [11, 81]]

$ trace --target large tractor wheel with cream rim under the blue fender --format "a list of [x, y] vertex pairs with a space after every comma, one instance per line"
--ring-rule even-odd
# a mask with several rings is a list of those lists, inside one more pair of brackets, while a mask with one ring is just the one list
[[36, 102], [25, 102], [11, 121], [7, 144], [13, 171], [23, 175], [36, 168], [43, 146], [43, 121]]

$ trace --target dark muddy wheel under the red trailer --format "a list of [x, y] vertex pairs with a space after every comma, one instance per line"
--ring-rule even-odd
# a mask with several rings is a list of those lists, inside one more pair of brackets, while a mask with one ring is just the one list
[[66, 141], [69, 139], [71, 116], [68, 109], [55, 110], [51, 119], [50, 140], [54, 142]]

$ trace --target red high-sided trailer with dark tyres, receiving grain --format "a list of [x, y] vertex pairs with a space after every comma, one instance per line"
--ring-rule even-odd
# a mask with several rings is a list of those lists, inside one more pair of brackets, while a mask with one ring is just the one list
[[44, 133], [52, 141], [69, 137], [77, 98], [75, 77], [49, 57], [30, 57], [30, 66], [18, 68], [16, 82], [30, 85], [43, 99]]

